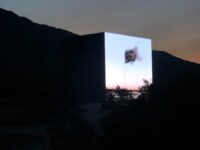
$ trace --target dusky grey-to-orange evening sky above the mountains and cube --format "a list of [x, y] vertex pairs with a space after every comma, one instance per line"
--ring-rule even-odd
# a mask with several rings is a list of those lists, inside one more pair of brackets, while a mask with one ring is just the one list
[[0, 7], [81, 35], [151, 38], [153, 49], [200, 63], [200, 0], [0, 0]]

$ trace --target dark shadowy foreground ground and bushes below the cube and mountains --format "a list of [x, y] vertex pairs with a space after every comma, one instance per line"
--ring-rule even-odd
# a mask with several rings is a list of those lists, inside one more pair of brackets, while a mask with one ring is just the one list
[[42, 104], [32, 104], [29, 110], [14, 102], [13, 108], [1, 105], [0, 147], [99, 150], [160, 144], [181, 147], [185, 140], [195, 144], [200, 127], [199, 85], [199, 76], [181, 76], [158, 85], [146, 84], [137, 99], [117, 89], [118, 101], [107, 99], [68, 107], [64, 112]]

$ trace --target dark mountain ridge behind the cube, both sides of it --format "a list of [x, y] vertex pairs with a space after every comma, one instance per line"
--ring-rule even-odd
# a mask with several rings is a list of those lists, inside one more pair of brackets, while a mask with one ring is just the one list
[[[45, 111], [44, 99], [57, 99], [62, 94], [63, 40], [78, 36], [72, 32], [41, 25], [0, 8], [0, 102], [18, 99], [18, 105], [27, 105]], [[59, 57], [57, 57], [59, 56]], [[200, 75], [200, 65], [153, 51], [153, 81], [162, 83], [181, 74]], [[52, 95], [54, 93], [55, 97]], [[49, 96], [50, 94], [50, 96]], [[36, 97], [35, 97], [36, 96]], [[20, 99], [20, 101], [19, 101]], [[33, 99], [33, 103], [30, 99]], [[37, 101], [35, 101], [37, 99]], [[20, 104], [21, 102], [21, 104]], [[57, 102], [60, 105], [60, 102]], [[6, 104], [7, 106], [10, 106]], [[4, 107], [3, 105], [1, 105]], [[64, 106], [64, 105], [63, 105]], [[25, 106], [24, 106], [25, 107]], [[39, 108], [38, 108], [39, 109]], [[40, 112], [41, 113], [41, 112]]]

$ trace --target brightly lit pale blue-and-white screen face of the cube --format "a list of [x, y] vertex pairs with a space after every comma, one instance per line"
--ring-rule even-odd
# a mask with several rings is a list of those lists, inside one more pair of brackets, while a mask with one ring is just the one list
[[151, 40], [105, 33], [106, 88], [138, 90], [152, 80]]

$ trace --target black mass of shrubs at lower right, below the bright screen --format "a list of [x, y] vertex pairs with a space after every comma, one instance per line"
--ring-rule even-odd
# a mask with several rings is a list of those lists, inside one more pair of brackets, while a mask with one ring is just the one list
[[200, 126], [199, 85], [200, 76], [193, 72], [152, 85], [145, 81], [138, 99], [128, 105], [112, 104], [112, 113], [102, 121], [103, 147], [125, 149], [148, 142], [180, 146], [178, 140], [195, 140]]

